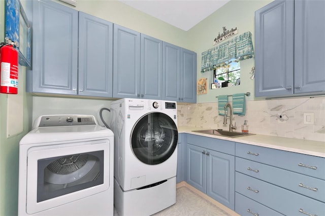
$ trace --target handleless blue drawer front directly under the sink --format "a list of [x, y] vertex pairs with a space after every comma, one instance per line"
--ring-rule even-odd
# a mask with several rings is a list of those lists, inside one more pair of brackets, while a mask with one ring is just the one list
[[188, 134], [187, 143], [229, 155], [235, 155], [235, 142]]

